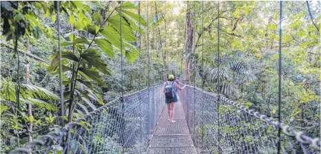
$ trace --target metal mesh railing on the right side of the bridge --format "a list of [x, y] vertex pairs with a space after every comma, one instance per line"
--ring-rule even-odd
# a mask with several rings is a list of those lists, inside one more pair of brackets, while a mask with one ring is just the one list
[[198, 153], [277, 153], [278, 128], [281, 153], [320, 153], [318, 137], [308, 137], [225, 96], [218, 101], [217, 94], [187, 87], [180, 99]]

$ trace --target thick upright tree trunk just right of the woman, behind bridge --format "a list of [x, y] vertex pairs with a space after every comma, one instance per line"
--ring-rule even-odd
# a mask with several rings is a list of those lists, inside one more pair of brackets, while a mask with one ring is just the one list
[[187, 28], [186, 28], [186, 39], [185, 39], [185, 56], [186, 56], [186, 83], [191, 84], [191, 61], [193, 59], [193, 40], [194, 40], [194, 28], [192, 26], [192, 12], [190, 4], [187, 2]]

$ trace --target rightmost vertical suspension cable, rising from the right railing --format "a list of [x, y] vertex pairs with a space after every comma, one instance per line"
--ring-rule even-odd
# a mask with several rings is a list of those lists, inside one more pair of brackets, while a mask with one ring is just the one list
[[[280, 1], [280, 30], [279, 30], [279, 70], [278, 70], [278, 124], [281, 123], [281, 73], [282, 73], [282, 1]], [[278, 153], [281, 146], [281, 128], [278, 126]]]

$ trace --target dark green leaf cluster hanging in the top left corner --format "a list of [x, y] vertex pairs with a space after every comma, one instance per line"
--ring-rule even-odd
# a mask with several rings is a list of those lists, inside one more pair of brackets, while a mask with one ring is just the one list
[[37, 11], [52, 13], [52, 7], [52, 2], [45, 1], [1, 1], [3, 35], [7, 36], [7, 41], [24, 34], [28, 36], [33, 34], [36, 39], [39, 39], [43, 31], [51, 37], [51, 29], [41, 24]]

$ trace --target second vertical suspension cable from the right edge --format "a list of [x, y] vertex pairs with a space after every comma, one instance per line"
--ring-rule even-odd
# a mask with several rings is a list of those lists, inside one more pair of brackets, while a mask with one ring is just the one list
[[218, 1], [218, 87], [217, 87], [217, 93], [218, 93], [218, 100], [217, 100], [217, 112], [218, 112], [218, 152], [220, 153], [220, 112], [218, 111], [220, 109], [220, 1]]

